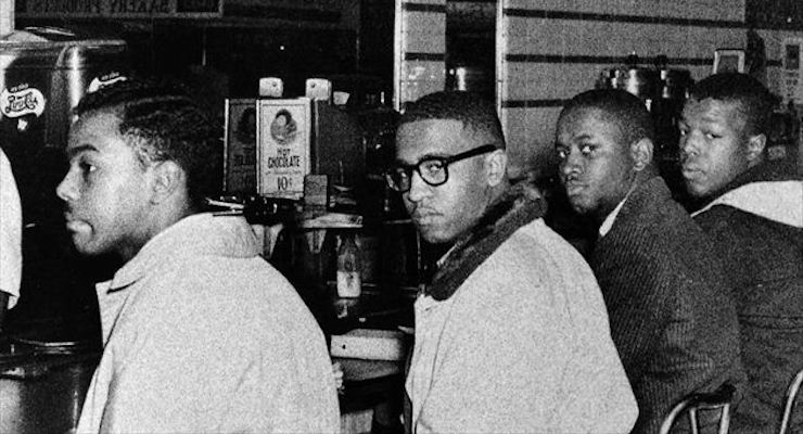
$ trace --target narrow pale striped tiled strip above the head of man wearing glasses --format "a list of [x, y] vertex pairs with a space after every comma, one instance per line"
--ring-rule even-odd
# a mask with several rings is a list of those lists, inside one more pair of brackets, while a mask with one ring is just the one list
[[446, 82], [446, 0], [396, 0], [395, 98], [405, 102]]

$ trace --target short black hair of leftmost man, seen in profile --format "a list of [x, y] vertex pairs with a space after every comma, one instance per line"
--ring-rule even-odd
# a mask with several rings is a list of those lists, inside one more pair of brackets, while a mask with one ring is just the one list
[[222, 177], [222, 129], [180, 82], [129, 78], [87, 93], [77, 117], [109, 110], [119, 117], [119, 132], [140, 163], [171, 161], [187, 174], [194, 209], [216, 193]]

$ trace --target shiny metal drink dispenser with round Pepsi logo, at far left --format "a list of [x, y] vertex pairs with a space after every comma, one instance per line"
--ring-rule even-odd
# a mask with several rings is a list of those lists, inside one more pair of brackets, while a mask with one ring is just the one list
[[63, 175], [72, 110], [92, 87], [126, 73], [126, 42], [31, 28], [0, 40], [0, 132], [14, 167], [26, 224], [41, 220]]

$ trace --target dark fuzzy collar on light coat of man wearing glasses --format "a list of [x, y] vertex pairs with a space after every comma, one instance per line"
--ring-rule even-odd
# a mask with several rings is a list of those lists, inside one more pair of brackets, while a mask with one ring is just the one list
[[449, 298], [513, 232], [545, 212], [546, 204], [535, 187], [524, 181], [512, 186], [457, 240], [424, 293], [437, 301]]

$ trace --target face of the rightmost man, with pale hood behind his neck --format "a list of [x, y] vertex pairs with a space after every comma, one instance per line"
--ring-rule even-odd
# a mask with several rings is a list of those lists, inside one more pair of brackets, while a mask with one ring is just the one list
[[678, 125], [683, 176], [692, 196], [712, 194], [748, 169], [749, 137], [736, 103], [689, 100]]

